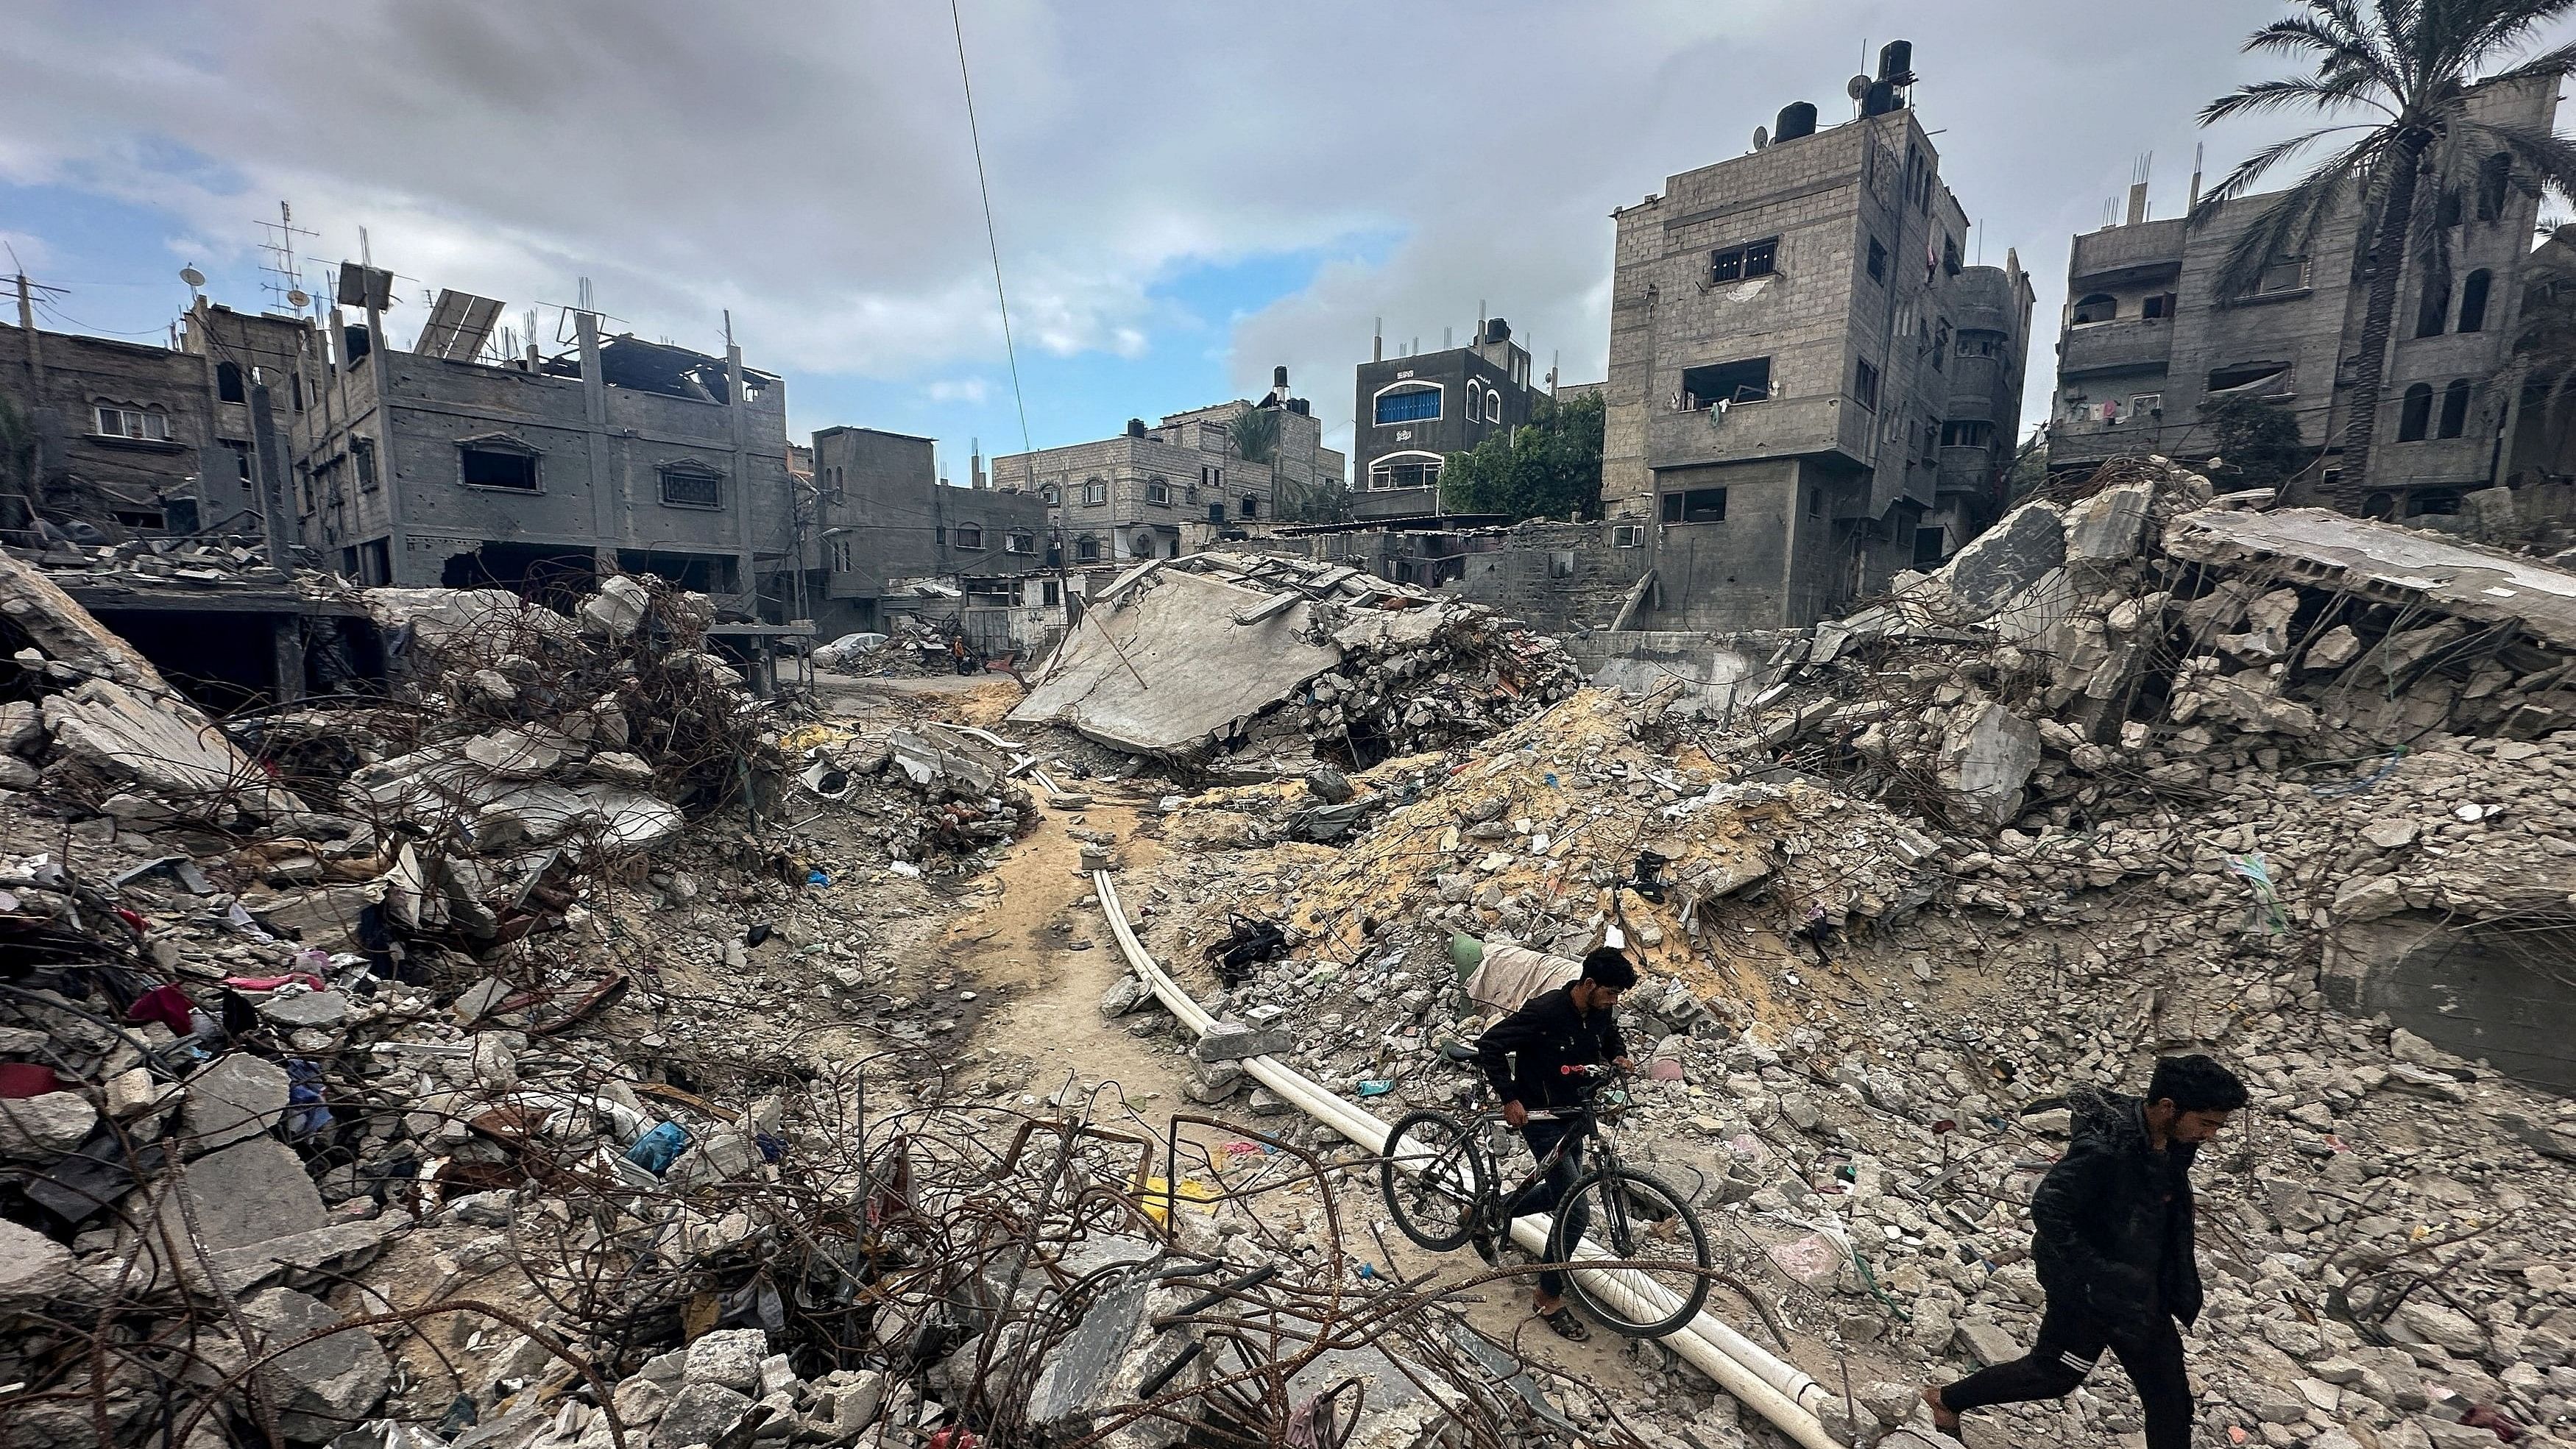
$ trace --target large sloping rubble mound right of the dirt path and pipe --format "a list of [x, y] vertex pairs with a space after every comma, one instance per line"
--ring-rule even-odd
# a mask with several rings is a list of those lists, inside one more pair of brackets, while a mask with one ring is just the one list
[[[1824, 1382], [2020, 1356], [2069, 1099], [2210, 1050], [2254, 1112], [2202, 1153], [2200, 1434], [2576, 1441], [2576, 1102], [2543, 1024], [2576, 939], [2561, 584], [2215, 502], [2115, 466], [1731, 700], [1584, 692], [1352, 775], [1383, 803], [1340, 849], [1291, 829], [1334, 780], [1172, 798], [1185, 865], [1123, 893], [1172, 963], [1280, 921], [1293, 950], [1226, 1009], [1381, 1114], [1468, 1084], [1481, 939], [1623, 939], [1625, 1145]], [[1917, 1413], [1880, 1398], [1839, 1428]], [[2136, 1413], [2097, 1374], [1986, 1423], [2105, 1441]]]

